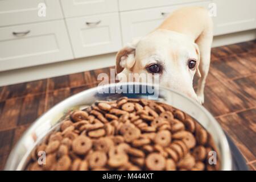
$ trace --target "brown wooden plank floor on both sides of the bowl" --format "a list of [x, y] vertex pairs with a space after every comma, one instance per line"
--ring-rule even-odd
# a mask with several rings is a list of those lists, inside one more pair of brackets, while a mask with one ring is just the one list
[[[53, 105], [97, 86], [110, 68], [0, 87], [0, 169], [23, 132]], [[212, 49], [204, 106], [256, 170], [256, 40]]]

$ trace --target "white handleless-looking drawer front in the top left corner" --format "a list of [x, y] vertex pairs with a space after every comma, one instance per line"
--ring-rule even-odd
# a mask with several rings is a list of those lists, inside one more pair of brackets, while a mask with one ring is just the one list
[[[46, 5], [46, 16], [42, 16], [40, 3]], [[59, 0], [1, 0], [0, 26], [61, 19]]]

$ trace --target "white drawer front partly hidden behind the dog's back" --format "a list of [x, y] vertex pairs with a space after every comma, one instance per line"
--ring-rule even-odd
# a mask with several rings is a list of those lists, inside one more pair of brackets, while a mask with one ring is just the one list
[[133, 38], [145, 36], [149, 32], [157, 28], [174, 10], [184, 6], [203, 6], [207, 8], [209, 2], [190, 3], [187, 5], [176, 5], [168, 7], [160, 7], [147, 10], [135, 10], [120, 13], [122, 40], [123, 44], [127, 44]]

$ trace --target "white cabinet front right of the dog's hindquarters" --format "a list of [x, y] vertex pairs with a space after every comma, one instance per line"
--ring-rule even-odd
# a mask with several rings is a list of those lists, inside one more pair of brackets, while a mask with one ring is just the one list
[[213, 0], [217, 7], [214, 35], [256, 28], [255, 0]]

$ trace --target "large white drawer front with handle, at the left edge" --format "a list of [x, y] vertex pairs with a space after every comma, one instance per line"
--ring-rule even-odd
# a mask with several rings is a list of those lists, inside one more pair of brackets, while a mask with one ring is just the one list
[[64, 20], [0, 28], [0, 71], [69, 59]]

